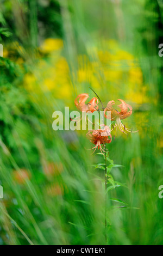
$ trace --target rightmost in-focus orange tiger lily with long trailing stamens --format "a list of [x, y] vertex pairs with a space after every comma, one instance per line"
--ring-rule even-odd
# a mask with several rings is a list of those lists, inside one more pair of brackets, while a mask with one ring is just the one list
[[[108, 102], [108, 105], [106, 106], [106, 108], [104, 110], [105, 118], [110, 118], [106, 115], [106, 111], [110, 111], [111, 112], [110, 120], [116, 121], [115, 126], [113, 126], [112, 130], [114, 130], [114, 128], [118, 127], [121, 132], [124, 132], [124, 133], [126, 133], [125, 131], [133, 132], [132, 129], [126, 128], [126, 126], [123, 125], [122, 121], [121, 121], [122, 119], [130, 117], [130, 115], [133, 113], [133, 108], [129, 104], [127, 104], [124, 100], [118, 99], [118, 101], [121, 101], [121, 104], [118, 105], [118, 107], [121, 109], [121, 111], [119, 112], [116, 109], [114, 109], [114, 107], [112, 105], [115, 105], [115, 101], [111, 100]], [[134, 132], [137, 132], [137, 131], [134, 131]]]

